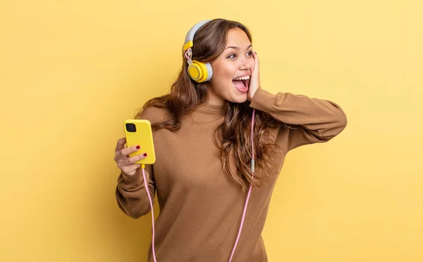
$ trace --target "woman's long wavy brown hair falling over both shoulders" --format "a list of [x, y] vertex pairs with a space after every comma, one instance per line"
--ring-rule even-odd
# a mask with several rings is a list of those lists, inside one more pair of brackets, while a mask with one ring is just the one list
[[[203, 25], [197, 31], [192, 47], [192, 60], [201, 62], [211, 62], [219, 57], [226, 47], [228, 31], [234, 28], [240, 28], [247, 34], [252, 42], [252, 37], [247, 27], [240, 22], [224, 19], [214, 19]], [[169, 131], [178, 131], [182, 124], [183, 116], [190, 114], [195, 109], [207, 103], [207, 83], [197, 83], [190, 79], [188, 75], [188, 63], [184, 53], [182, 53], [182, 68], [178, 78], [173, 82], [170, 93], [148, 100], [142, 109], [137, 112], [136, 118], [141, 118], [142, 111], [147, 107], [165, 108], [168, 112], [168, 119], [163, 122], [152, 123], [152, 130], [168, 129]], [[223, 169], [228, 171], [236, 182], [247, 188], [261, 187], [267, 177], [271, 176], [276, 169], [271, 161], [272, 156], [278, 151], [274, 139], [270, 137], [270, 129], [281, 125], [270, 114], [256, 110], [254, 126], [254, 145], [255, 145], [255, 173], [252, 178], [250, 162], [252, 157], [251, 150], [251, 118], [252, 108], [250, 101], [245, 103], [231, 103], [226, 101], [223, 107], [224, 120], [216, 129], [216, 146], [221, 151], [221, 163]], [[233, 152], [236, 162], [235, 167], [229, 166], [229, 159]]]

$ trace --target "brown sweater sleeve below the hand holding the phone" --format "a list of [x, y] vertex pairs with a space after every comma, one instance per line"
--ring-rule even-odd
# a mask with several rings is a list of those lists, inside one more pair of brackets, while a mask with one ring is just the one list
[[[150, 164], [145, 165], [145, 177], [154, 204], [156, 186], [152, 165]], [[116, 186], [116, 200], [118, 207], [131, 218], [140, 218], [151, 211], [141, 168], [137, 169], [133, 176], [126, 176], [121, 172]]]

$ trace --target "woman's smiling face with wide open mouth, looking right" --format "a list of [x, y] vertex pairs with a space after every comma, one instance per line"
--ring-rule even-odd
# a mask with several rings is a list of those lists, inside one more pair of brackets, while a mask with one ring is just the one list
[[[255, 65], [252, 54], [247, 34], [239, 28], [229, 30], [225, 50], [211, 62], [213, 77], [207, 89], [210, 104], [223, 105], [226, 100], [244, 103], [247, 100], [249, 77]], [[247, 80], [234, 80], [240, 77]]]

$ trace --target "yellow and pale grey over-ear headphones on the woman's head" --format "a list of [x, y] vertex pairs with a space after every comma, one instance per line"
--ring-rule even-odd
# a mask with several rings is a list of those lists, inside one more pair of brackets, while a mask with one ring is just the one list
[[209, 81], [213, 76], [212, 65], [210, 63], [202, 63], [197, 60], [192, 60], [192, 40], [194, 39], [195, 33], [207, 22], [211, 20], [204, 20], [202, 22], [198, 22], [193, 27], [191, 27], [190, 31], [188, 31], [185, 37], [185, 44], [183, 45], [183, 51], [185, 52], [185, 57], [188, 59], [188, 75], [191, 77], [192, 80], [196, 81], [197, 83], [202, 83], [205, 81]]

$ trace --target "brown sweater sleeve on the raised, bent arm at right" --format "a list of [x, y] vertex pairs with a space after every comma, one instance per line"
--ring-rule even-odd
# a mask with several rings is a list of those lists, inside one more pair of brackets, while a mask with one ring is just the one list
[[250, 107], [267, 112], [289, 125], [281, 129], [288, 130], [286, 152], [301, 145], [329, 141], [347, 125], [347, 117], [336, 103], [293, 93], [278, 92], [274, 95], [259, 88]]

